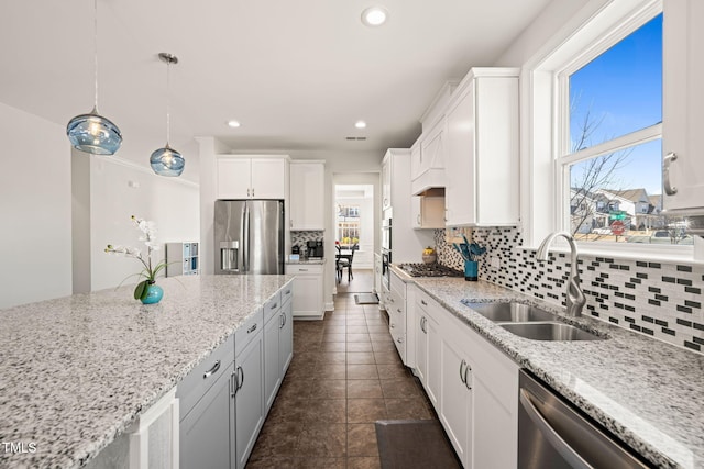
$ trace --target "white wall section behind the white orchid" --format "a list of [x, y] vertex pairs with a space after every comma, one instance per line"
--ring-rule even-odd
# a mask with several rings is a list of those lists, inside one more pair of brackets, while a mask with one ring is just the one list
[[[156, 176], [150, 168], [114, 157], [90, 159], [90, 266], [91, 289], [117, 287], [127, 277], [142, 270], [134, 258], [105, 253], [108, 244], [146, 250], [139, 241], [142, 232], [131, 216], [152, 220], [160, 243], [200, 239], [198, 185]], [[153, 259], [164, 258], [164, 249]], [[125, 284], [136, 283], [136, 277]]]

